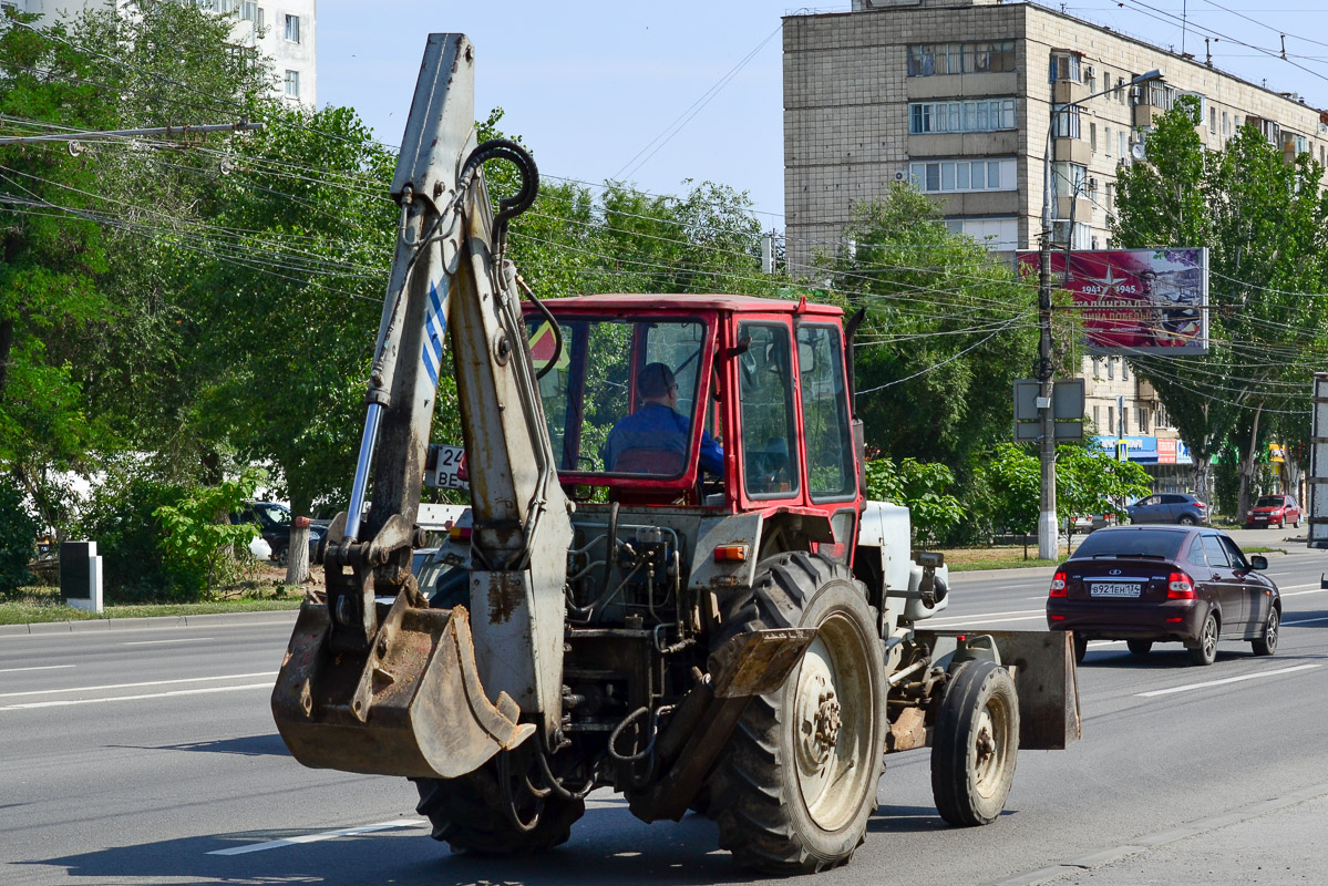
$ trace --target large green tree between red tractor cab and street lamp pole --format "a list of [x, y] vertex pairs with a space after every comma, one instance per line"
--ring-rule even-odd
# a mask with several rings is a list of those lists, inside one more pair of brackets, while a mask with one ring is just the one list
[[1009, 434], [1011, 384], [1036, 352], [1036, 294], [906, 186], [858, 206], [847, 238], [855, 247], [822, 264], [833, 298], [867, 311], [855, 355], [867, 444], [939, 461], [967, 493], [979, 454]]

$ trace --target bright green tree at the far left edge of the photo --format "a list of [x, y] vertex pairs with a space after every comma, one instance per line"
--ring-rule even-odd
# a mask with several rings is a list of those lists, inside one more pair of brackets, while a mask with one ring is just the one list
[[[60, 40], [61, 25], [50, 39], [28, 27], [36, 16], [0, 15], [7, 134], [113, 120], [102, 96], [82, 84], [88, 58]], [[0, 465], [56, 529], [68, 502], [50, 474], [78, 468], [92, 437], [72, 355], [60, 343], [112, 313], [96, 286], [105, 244], [86, 218], [96, 178], [96, 165], [62, 145], [0, 146]]]

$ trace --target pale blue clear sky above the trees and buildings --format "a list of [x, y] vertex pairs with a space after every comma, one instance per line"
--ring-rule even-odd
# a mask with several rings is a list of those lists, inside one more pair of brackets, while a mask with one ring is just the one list
[[[1325, 0], [1081, 1], [1044, 5], [1199, 61], [1208, 37], [1215, 66], [1328, 108]], [[426, 35], [461, 32], [475, 45], [477, 117], [502, 108], [501, 128], [522, 137], [540, 174], [652, 194], [712, 181], [746, 191], [762, 226], [782, 228], [780, 21], [798, 11], [780, 0], [319, 0], [319, 102], [355, 108], [400, 145]]]

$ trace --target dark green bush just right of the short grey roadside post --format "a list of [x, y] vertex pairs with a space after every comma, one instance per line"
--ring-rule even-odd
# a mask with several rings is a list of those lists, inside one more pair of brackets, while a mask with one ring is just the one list
[[116, 460], [108, 465], [76, 529], [77, 537], [97, 542], [108, 603], [195, 594], [187, 574], [167, 563], [162, 549], [165, 534], [153, 517], [157, 509], [174, 505], [185, 495], [182, 486], [153, 477], [135, 460]]

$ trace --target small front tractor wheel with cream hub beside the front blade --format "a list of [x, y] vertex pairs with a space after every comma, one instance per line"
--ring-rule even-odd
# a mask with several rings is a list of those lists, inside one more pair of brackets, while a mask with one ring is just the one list
[[931, 748], [931, 794], [957, 828], [988, 825], [1005, 809], [1019, 757], [1019, 696], [992, 662], [960, 665], [940, 701]]

